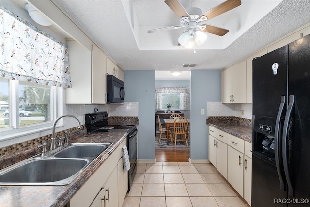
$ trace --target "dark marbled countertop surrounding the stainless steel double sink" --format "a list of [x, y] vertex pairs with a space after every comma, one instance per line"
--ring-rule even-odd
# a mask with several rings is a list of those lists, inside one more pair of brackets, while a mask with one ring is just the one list
[[[82, 185], [93, 175], [116, 147], [126, 138], [126, 132], [87, 133], [71, 140], [71, 143], [112, 144], [85, 170], [64, 186], [0, 186], [1, 207], [63, 207]], [[60, 169], [61, 170], [61, 169]]]

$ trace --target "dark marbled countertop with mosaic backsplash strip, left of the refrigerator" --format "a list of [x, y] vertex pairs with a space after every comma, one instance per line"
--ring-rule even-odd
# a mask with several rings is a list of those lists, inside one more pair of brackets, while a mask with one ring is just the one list
[[238, 117], [208, 117], [207, 125], [252, 143], [251, 121]]

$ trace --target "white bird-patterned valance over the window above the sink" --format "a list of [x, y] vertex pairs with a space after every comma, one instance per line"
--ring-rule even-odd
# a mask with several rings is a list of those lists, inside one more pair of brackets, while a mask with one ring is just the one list
[[1, 77], [71, 87], [68, 49], [45, 32], [0, 6]]

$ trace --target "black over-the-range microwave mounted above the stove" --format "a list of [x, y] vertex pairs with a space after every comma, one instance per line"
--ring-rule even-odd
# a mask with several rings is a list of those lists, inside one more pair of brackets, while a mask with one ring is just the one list
[[124, 82], [107, 74], [107, 104], [124, 103]]

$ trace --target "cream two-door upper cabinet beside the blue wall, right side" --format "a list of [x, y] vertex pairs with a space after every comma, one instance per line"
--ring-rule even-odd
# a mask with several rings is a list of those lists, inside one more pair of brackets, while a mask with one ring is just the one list
[[234, 64], [221, 72], [222, 103], [247, 102], [247, 63]]

